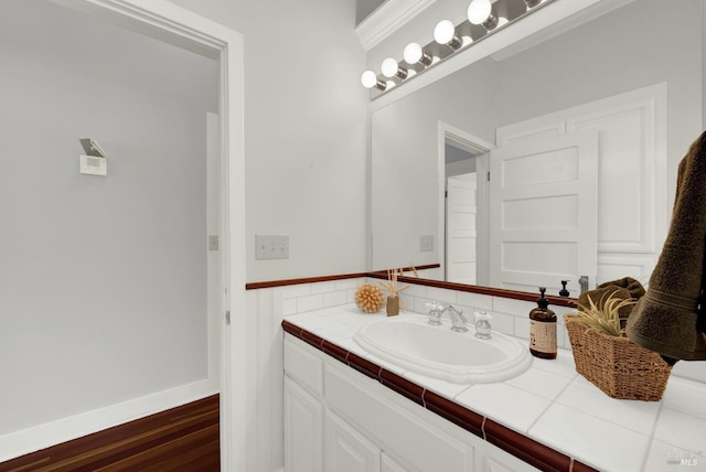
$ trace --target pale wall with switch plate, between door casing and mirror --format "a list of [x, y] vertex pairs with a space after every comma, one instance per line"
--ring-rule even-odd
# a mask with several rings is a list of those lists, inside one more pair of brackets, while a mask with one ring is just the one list
[[[172, 0], [245, 35], [247, 280], [366, 267], [367, 90], [355, 2]], [[256, 234], [290, 258], [255, 260]]]

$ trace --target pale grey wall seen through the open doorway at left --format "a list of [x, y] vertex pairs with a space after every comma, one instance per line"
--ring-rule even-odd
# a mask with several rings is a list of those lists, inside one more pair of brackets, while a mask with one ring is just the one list
[[0, 439], [205, 379], [217, 64], [39, 0], [0, 6]]

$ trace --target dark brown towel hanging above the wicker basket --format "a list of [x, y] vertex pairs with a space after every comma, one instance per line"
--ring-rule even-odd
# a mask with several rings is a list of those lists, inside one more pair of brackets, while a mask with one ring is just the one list
[[632, 342], [663, 357], [706, 360], [705, 261], [706, 132], [680, 162], [670, 232], [648, 292], [628, 320]]

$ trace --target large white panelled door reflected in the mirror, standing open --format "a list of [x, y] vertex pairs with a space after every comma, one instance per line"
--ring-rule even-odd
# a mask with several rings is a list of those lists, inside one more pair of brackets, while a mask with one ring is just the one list
[[490, 282], [557, 294], [597, 273], [598, 135], [496, 149], [490, 158]]

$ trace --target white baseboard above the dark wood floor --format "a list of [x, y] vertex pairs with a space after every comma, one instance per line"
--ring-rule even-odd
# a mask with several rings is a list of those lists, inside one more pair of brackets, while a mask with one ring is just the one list
[[217, 393], [217, 382], [206, 379], [3, 435], [0, 436], [0, 462], [185, 405]]

